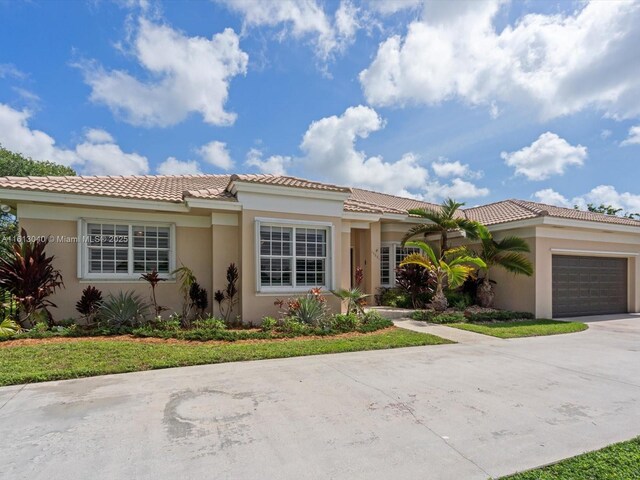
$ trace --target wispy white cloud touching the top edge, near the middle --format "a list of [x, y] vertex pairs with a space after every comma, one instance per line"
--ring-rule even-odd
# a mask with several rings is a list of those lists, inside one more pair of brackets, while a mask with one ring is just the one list
[[279, 27], [282, 38], [312, 37], [316, 54], [327, 60], [335, 51], [348, 45], [357, 29], [358, 9], [343, 0], [335, 12], [333, 21], [316, 0], [218, 0], [230, 10], [243, 16], [244, 28]]

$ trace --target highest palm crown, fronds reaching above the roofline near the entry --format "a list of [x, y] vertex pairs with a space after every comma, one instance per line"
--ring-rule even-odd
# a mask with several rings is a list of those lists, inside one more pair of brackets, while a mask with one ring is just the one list
[[456, 216], [456, 212], [463, 205], [464, 203], [448, 198], [442, 202], [438, 209], [412, 208], [409, 210], [409, 214], [431, 220], [432, 223], [411, 227], [402, 239], [402, 244], [405, 245], [409, 239], [416, 235], [426, 237], [429, 234], [436, 233], [440, 235], [440, 252], [444, 253], [449, 250], [448, 239], [450, 232], [462, 231], [468, 238], [478, 238], [478, 226], [480, 224], [462, 216]]

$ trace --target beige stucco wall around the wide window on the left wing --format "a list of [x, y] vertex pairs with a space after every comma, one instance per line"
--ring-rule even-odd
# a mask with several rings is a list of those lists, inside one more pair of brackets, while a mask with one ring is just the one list
[[[19, 212], [18, 212], [19, 214]], [[41, 220], [25, 218], [20, 226], [29, 235], [54, 235], [76, 237], [77, 221]], [[103, 281], [81, 280], [77, 276], [78, 245], [75, 243], [49, 243], [47, 253], [55, 256], [54, 266], [61, 271], [65, 288], [59, 290], [52, 298], [58, 308], [52, 308], [55, 319], [78, 317], [75, 304], [80, 299], [82, 290], [93, 285], [103, 292], [103, 296], [119, 291], [133, 290], [143, 299], [150, 299], [149, 285], [144, 281]], [[176, 227], [176, 263], [191, 268], [202, 287], [211, 292], [211, 228]], [[156, 296], [162, 306], [168, 307], [168, 313], [182, 309], [182, 298], [179, 285], [175, 281], [161, 282]], [[211, 299], [211, 293], [209, 293]]]

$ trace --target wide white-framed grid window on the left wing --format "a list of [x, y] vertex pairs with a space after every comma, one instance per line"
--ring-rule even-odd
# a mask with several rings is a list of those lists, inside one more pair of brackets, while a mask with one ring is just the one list
[[78, 248], [81, 278], [138, 280], [154, 269], [166, 278], [175, 268], [175, 226], [81, 220]]

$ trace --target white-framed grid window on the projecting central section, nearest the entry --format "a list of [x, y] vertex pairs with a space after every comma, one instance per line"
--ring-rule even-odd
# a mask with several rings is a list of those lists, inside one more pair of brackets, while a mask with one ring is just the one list
[[331, 288], [330, 224], [256, 220], [259, 292]]

